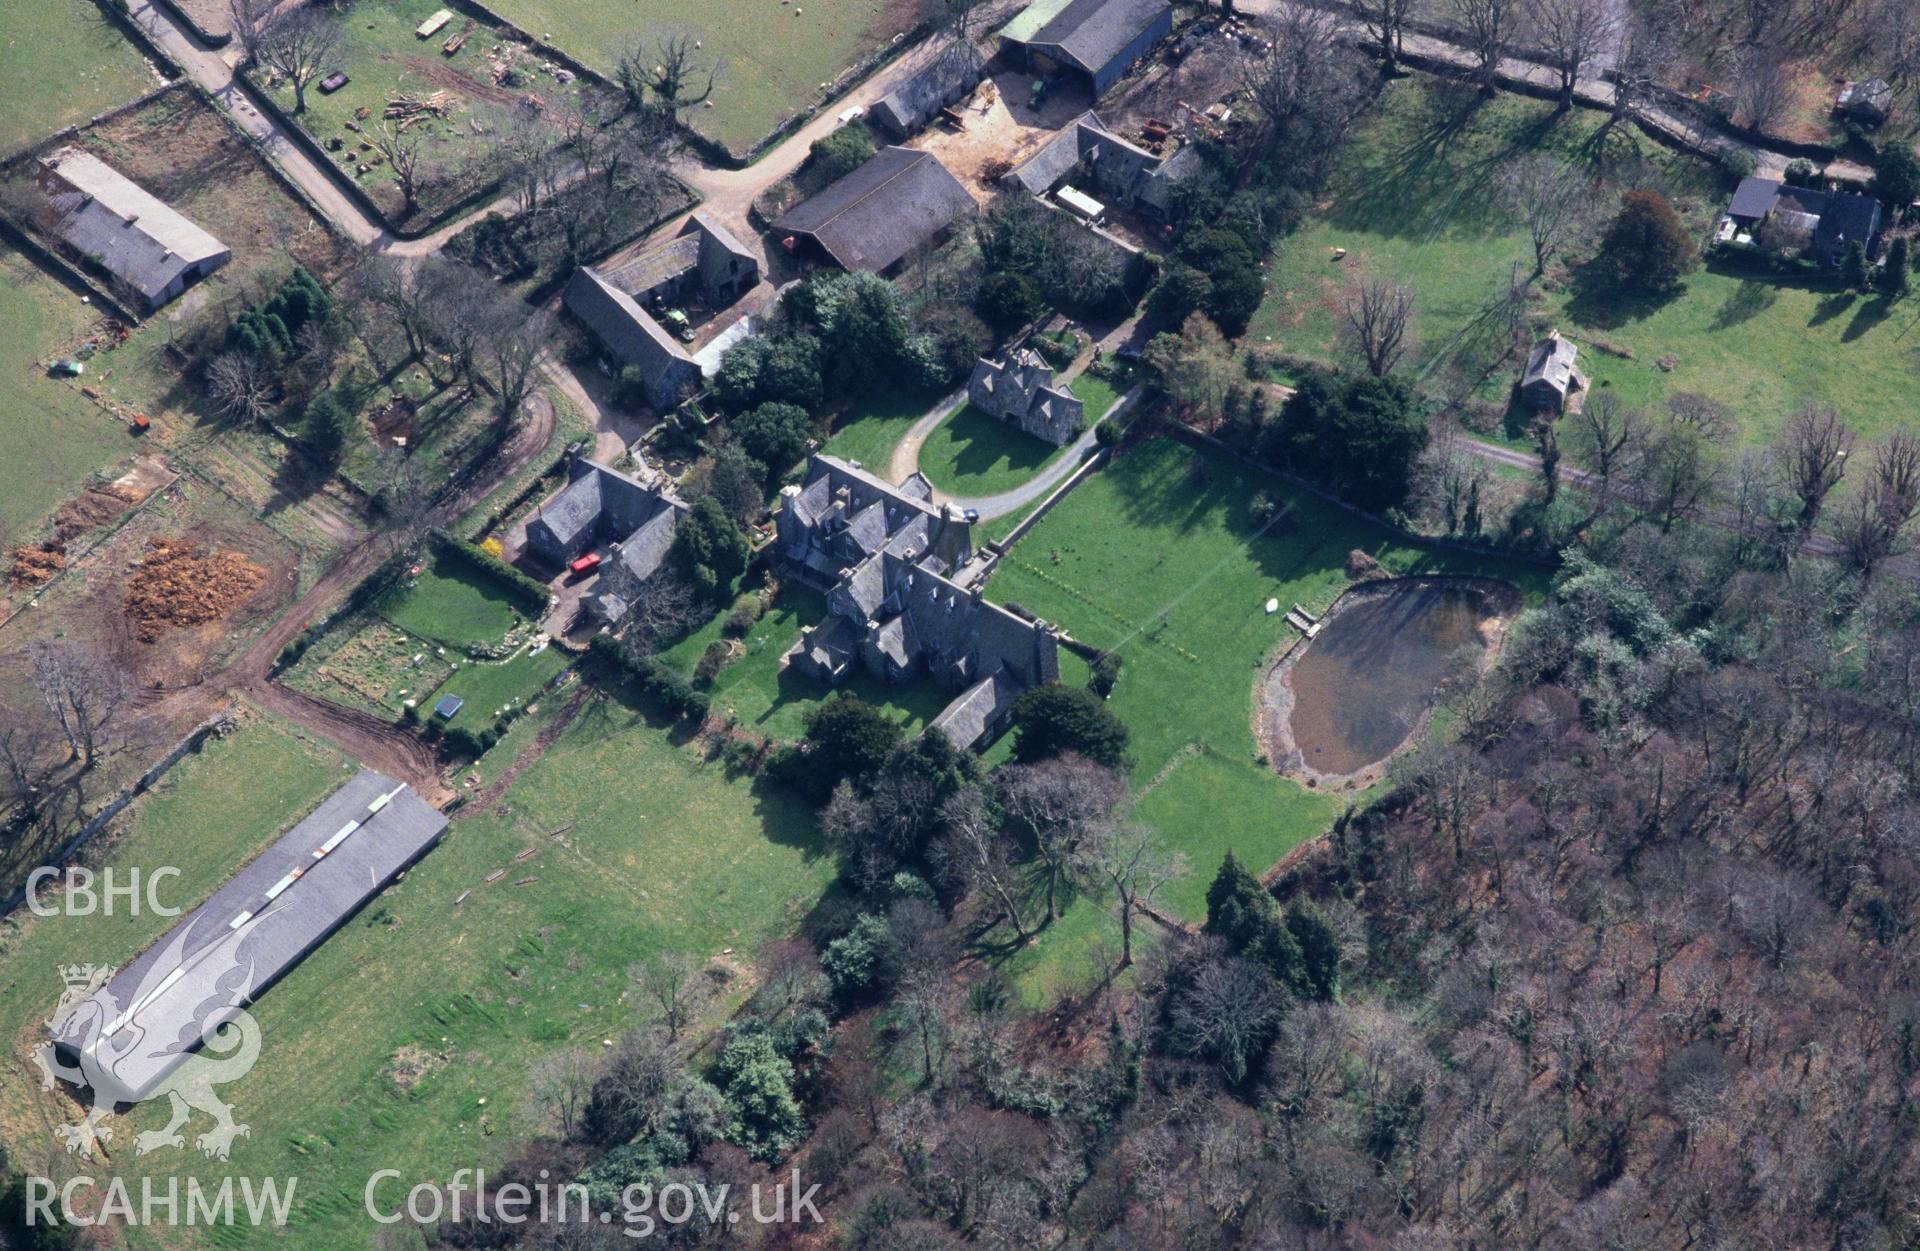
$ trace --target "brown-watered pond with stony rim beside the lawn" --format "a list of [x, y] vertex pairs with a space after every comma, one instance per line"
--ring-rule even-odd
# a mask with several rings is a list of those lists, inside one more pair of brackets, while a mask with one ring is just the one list
[[1331, 781], [1400, 750], [1442, 693], [1480, 675], [1507, 616], [1501, 591], [1436, 579], [1350, 593], [1267, 677], [1275, 764]]

